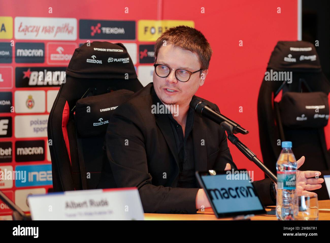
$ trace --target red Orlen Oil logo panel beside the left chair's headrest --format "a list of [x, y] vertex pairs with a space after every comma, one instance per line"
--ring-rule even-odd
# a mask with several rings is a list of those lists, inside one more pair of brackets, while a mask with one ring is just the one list
[[76, 48], [76, 43], [49, 42], [47, 63], [68, 65]]

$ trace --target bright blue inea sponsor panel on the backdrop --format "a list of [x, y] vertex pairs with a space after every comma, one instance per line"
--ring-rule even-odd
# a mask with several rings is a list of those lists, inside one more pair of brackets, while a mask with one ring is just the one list
[[16, 171], [26, 171], [27, 180], [15, 180], [16, 187], [52, 185], [51, 164], [18, 165]]

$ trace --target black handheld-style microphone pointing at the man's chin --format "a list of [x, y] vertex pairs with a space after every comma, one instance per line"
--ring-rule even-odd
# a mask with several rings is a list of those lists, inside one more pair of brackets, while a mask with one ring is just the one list
[[210, 120], [214, 121], [217, 124], [220, 124], [222, 122], [226, 122], [229, 125], [233, 126], [233, 133], [242, 133], [242, 134], [248, 134], [248, 131], [244, 128], [242, 128], [239, 124], [236, 122], [230, 120], [229, 118], [225, 117], [224, 115], [221, 115], [219, 112], [212, 109], [205, 101], [202, 101], [197, 98], [192, 98], [190, 101], [189, 106], [194, 109], [194, 111], [197, 112], [197, 114], [200, 114], [206, 118], [209, 118]]

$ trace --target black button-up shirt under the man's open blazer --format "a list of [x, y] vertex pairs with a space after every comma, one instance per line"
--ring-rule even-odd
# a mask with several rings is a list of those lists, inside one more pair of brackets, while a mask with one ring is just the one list
[[179, 179], [177, 187], [182, 188], [199, 187], [196, 184], [193, 140], [190, 134], [194, 125], [193, 112], [193, 109], [189, 108], [184, 137], [181, 125], [173, 118], [173, 114], [168, 114], [179, 157]]

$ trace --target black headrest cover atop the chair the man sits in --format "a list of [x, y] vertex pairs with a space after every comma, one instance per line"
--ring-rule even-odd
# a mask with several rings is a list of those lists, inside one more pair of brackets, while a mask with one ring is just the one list
[[86, 42], [77, 48], [66, 69], [76, 78], [136, 79], [133, 61], [122, 43]]

